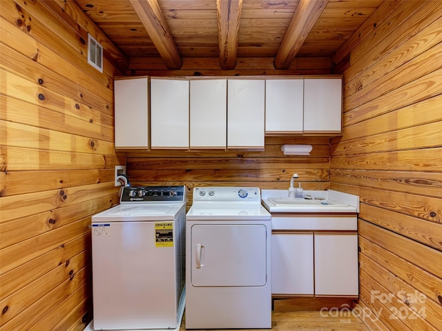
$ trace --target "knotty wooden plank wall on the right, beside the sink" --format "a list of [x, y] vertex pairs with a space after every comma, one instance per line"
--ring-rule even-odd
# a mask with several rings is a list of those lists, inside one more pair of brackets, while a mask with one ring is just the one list
[[373, 330], [442, 330], [441, 17], [441, 1], [386, 1], [333, 59], [331, 188], [361, 197], [358, 312]]

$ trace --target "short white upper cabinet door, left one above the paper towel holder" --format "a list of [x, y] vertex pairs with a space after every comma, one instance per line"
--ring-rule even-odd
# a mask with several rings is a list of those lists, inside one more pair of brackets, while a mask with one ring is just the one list
[[267, 79], [265, 84], [265, 133], [302, 133], [304, 80]]

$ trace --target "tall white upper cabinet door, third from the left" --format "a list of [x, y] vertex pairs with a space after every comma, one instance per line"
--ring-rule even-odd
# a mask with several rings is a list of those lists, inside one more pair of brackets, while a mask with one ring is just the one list
[[227, 147], [227, 79], [190, 81], [191, 148]]

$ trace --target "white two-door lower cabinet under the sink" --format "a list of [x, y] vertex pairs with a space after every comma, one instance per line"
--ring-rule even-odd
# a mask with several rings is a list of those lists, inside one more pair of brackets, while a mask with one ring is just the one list
[[358, 297], [356, 214], [271, 217], [273, 297]]

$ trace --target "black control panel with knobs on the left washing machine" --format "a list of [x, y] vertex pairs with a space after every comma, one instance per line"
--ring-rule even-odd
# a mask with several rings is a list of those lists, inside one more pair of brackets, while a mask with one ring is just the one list
[[137, 202], [184, 202], [186, 187], [182, 186], [138, 186], [123, 188], [120, 203]]

